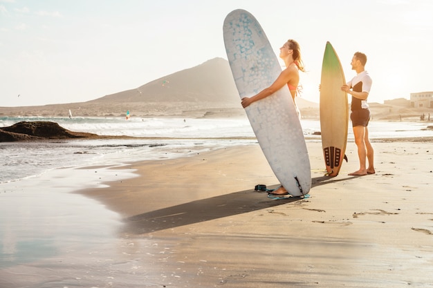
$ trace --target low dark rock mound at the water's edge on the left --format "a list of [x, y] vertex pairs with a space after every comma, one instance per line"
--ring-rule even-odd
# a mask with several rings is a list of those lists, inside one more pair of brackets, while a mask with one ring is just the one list
[[69, 131], [55, 122], [48, 121], [18, 122], [12, 126], [0, 128], [0, 142], [90, 137], [98, 137], [98, 135]]

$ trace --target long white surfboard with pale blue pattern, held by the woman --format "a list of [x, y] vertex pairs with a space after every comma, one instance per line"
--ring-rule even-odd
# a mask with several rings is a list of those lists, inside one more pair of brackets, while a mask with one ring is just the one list
[[[234, 10], [223, 25], [225, 50], [239, 96], [251, 97], [277, 79], [281, 66], [259, 22]], [[240, 104], [239, 104], [240, 105]], [[287, 86], [246, 109], [252, 130], [270, 167], [293, 196], [311, 189], [311, 168], [304, 133]]]

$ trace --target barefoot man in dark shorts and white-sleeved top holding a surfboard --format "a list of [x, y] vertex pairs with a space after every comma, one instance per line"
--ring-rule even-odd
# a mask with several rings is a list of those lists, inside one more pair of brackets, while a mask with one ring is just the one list
[[[358, 171], [349, 173], [349, 175], [367, 175], [374, 174], [374, 150], [369, 140], [368, 124], [370, 120], [370, 110], [367, 104], [367, 97], [370, 93], [372, 80], [365, 70], [367, 56], [364, 53], [356, 52], [353, 55], [351, 66], [356, 71], [356, 76], [341, 87], [341, 90], [352, 95], [351, 115], [353, 136], [355, 137], [356, 146], [358, 146], [358, 157], [360, 168]], [[366, 158], [369, 162], [367, 167]]]

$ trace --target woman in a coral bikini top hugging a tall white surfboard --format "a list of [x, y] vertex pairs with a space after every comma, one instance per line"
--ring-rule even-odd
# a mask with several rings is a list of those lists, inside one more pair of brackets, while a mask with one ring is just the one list
[[[277, 92], [277, 90], [284, 87], [284, 85], [288, 86], [288, 90], [293, 98], [293, 102], [295, 103], [296, 111], [298, 117], [300, 117], [300, 111], [296, 106], [295, 97], [298, 92], [298, 84], [300, 82], [300, 73], [299, 70], [305, 72], [304, 64], [301, 58], [301, 49], [300, 44], [293, 39], [289, 39], [284, 43], [282, 48], [279, 48], [279, 57], [284, 60], [284, 64], [286, 65], [286, 69], [282, 70], [282, 73], [279, 74], [277, 79], [271, 84], [268, 88], [264, 88], [259, 93], [252, 97], [243, 97], [241, 99], [241, 104], [243, 108], [250, 106], [253, 102], [264, 99], [273, 93]], [[279, 187], [279, 189], [271, 192], [275, 195], [285, 195], [288, 192], [284, 187]]]

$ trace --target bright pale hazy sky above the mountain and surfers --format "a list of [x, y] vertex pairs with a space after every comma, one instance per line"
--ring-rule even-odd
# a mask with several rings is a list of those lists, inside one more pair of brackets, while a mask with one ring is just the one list
[[433, 90], [431, 0], [0, 0], [0, 106], [86, 102], [227, 59], [223, 21], [239, 8], [277, 55], [300, 43], [308, 101], [319, 102], [326, 41], [347, 80], [353, 53], [367, 55], [369, 102]]

